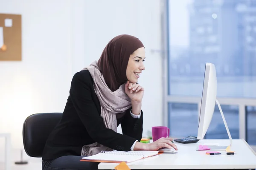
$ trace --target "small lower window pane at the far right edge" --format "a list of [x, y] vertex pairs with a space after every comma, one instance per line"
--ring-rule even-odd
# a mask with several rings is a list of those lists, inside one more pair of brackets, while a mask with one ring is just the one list
[[256, 107], [246, 107], [246, 121], [247, 143], [256, 145]]

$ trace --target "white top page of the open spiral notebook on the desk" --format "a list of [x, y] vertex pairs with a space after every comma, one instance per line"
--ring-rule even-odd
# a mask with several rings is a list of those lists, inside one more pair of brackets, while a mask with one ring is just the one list
[[98, 161], [137, 161], [139, 159], [143, 159], [143, 155], [115, 155], [115, 154], [106, 154], [106, 153], [98, 153], [93, 156], [83, 157], [85, 160], [98, 160]]

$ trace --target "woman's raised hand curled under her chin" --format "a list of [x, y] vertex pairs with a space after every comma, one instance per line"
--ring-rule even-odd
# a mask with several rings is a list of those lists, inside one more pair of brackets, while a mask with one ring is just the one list
[[140, 84], [127, 81], [125, 84], [125, 93], [132, 102], [141, 103], [144, 95], [144, 88]]

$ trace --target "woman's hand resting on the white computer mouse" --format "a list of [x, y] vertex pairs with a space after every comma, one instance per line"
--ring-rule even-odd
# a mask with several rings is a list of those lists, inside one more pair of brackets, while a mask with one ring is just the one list
[[151, 151], [157, 151], [162, 148], [174, 148], [175, 150], [178, 150], [177, 146], [172, 143], [173, 138], [160, 138], [156, 140], [155, 142], [145, 144], [141, 142], [136, 142], [134, 146], [134, 150], [151, 150]]

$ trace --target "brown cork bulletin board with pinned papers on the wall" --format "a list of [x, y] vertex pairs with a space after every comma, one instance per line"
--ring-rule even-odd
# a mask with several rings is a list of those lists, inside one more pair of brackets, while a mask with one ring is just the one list
[[21, 15], [0, 14], [0, 62], [21, 58]]

